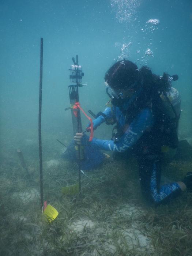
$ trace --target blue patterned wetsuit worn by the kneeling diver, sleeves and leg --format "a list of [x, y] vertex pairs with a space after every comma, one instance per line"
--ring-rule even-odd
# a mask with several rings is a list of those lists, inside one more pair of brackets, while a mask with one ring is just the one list
[[[139, 148], [140, 150], [136, 150], [136, 158], [139, 163], [139, 176], [140, 176], [140, 184], [143, 195], [154, 203], [162, 203], [166, 199], [170, 199], [173, 196], [181, 193], [181, 189], [179, 185], [175, 182], [171, 184], [166, 184], [160, 186], [161, 182], [161, 154], [159, 150], [156, 148], [161, 148], [157, 142], [154, 142], [154, 139], [149, 135], [147, 138], [148, 131], [153, 130], [155, 125], [154, 116], [151, 112], [151, 109], [144, 108], [136, 114], [131, 123], [126, 127], [125, 116], [121, 112], [120, 108], [113, 108], [114, 116], [116, 117], [116, 121], [118, 125], [124, 130], [122, 135], [120, 136], [117, 142], [113, 140], [101, 140], [93, 138], [91, 144], [94, 144], [95, 147], [101, 150], [108, 150], [118, 153], [123, 153], [129, 149]], [[107, 118], [112, 117], [111, 108], [106, 108], [103, 112]], [[97, 122], [97, 126], [105, 121], [104, 116], [98, 117], [99, 122]], [[157, 137], [157, 133], [154, 133], [155, 137]], [[150, 137], [151, 136], [151, 137]], [[145, 137], [147, 140], [145, 140]], [[143, 147], [143, 141], [147, 141], [148, 146]], [[153, 148], [150, 151], [150, 144], [153, 144]], [[146, 146], [146, 145], [144, 145]], [[142, 148], [142, 150], [141, 150]], [[147, 149], [148, 153], [144, 153]], [[148, 150], [149, 148], [149, 150]], [[129, 151], [128, 151], [129, 152]], [[139, 152], [139, 153], [138, 153]]]

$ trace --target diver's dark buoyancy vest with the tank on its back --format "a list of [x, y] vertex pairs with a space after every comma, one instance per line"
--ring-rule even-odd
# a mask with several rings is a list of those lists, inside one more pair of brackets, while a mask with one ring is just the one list
[[[155, 118], [153, 128], [143, 133], [142, 137], [132, 147], [136, 155], [143, 154], [160, 154], [166, 153], [170, 148], [176, 149], [178, 146], [178, 121], [180, 118], [180, 106], [181, 98], [178, 91], [170, 87], [166, 92], [158, 92], [158, 96], [151, 104], [148, 103], [148, 107]], [[141, 110], [136, 108], [131, 114], [126, 114], [125, 124], [123, 127], [118, 124], [115, 129], [117, 132], [113, 132], [113, 140], [117, 142], [120, 136], [123, 135], [128, 125], [131, 124], [133, 119]], [[130, 112], [129, 112], [130, 113]], [[127, 118], [127, 120], [126, 120]], [[113, 131], [114, 131], [113, 128]]]

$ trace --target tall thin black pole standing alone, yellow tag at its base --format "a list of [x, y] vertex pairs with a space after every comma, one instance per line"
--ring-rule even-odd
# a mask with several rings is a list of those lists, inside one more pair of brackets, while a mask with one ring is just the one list
[[38, 131], [39, 131], [39, 174], [40, 174], [41, 208], [43, 207], [43, 165], [42, 165], [42, 142], [41, 142], [42, 77], [43, 77], [43, 38], [41, 38], [41, 50], [40, 50], [39, 125], [38, 125]]

